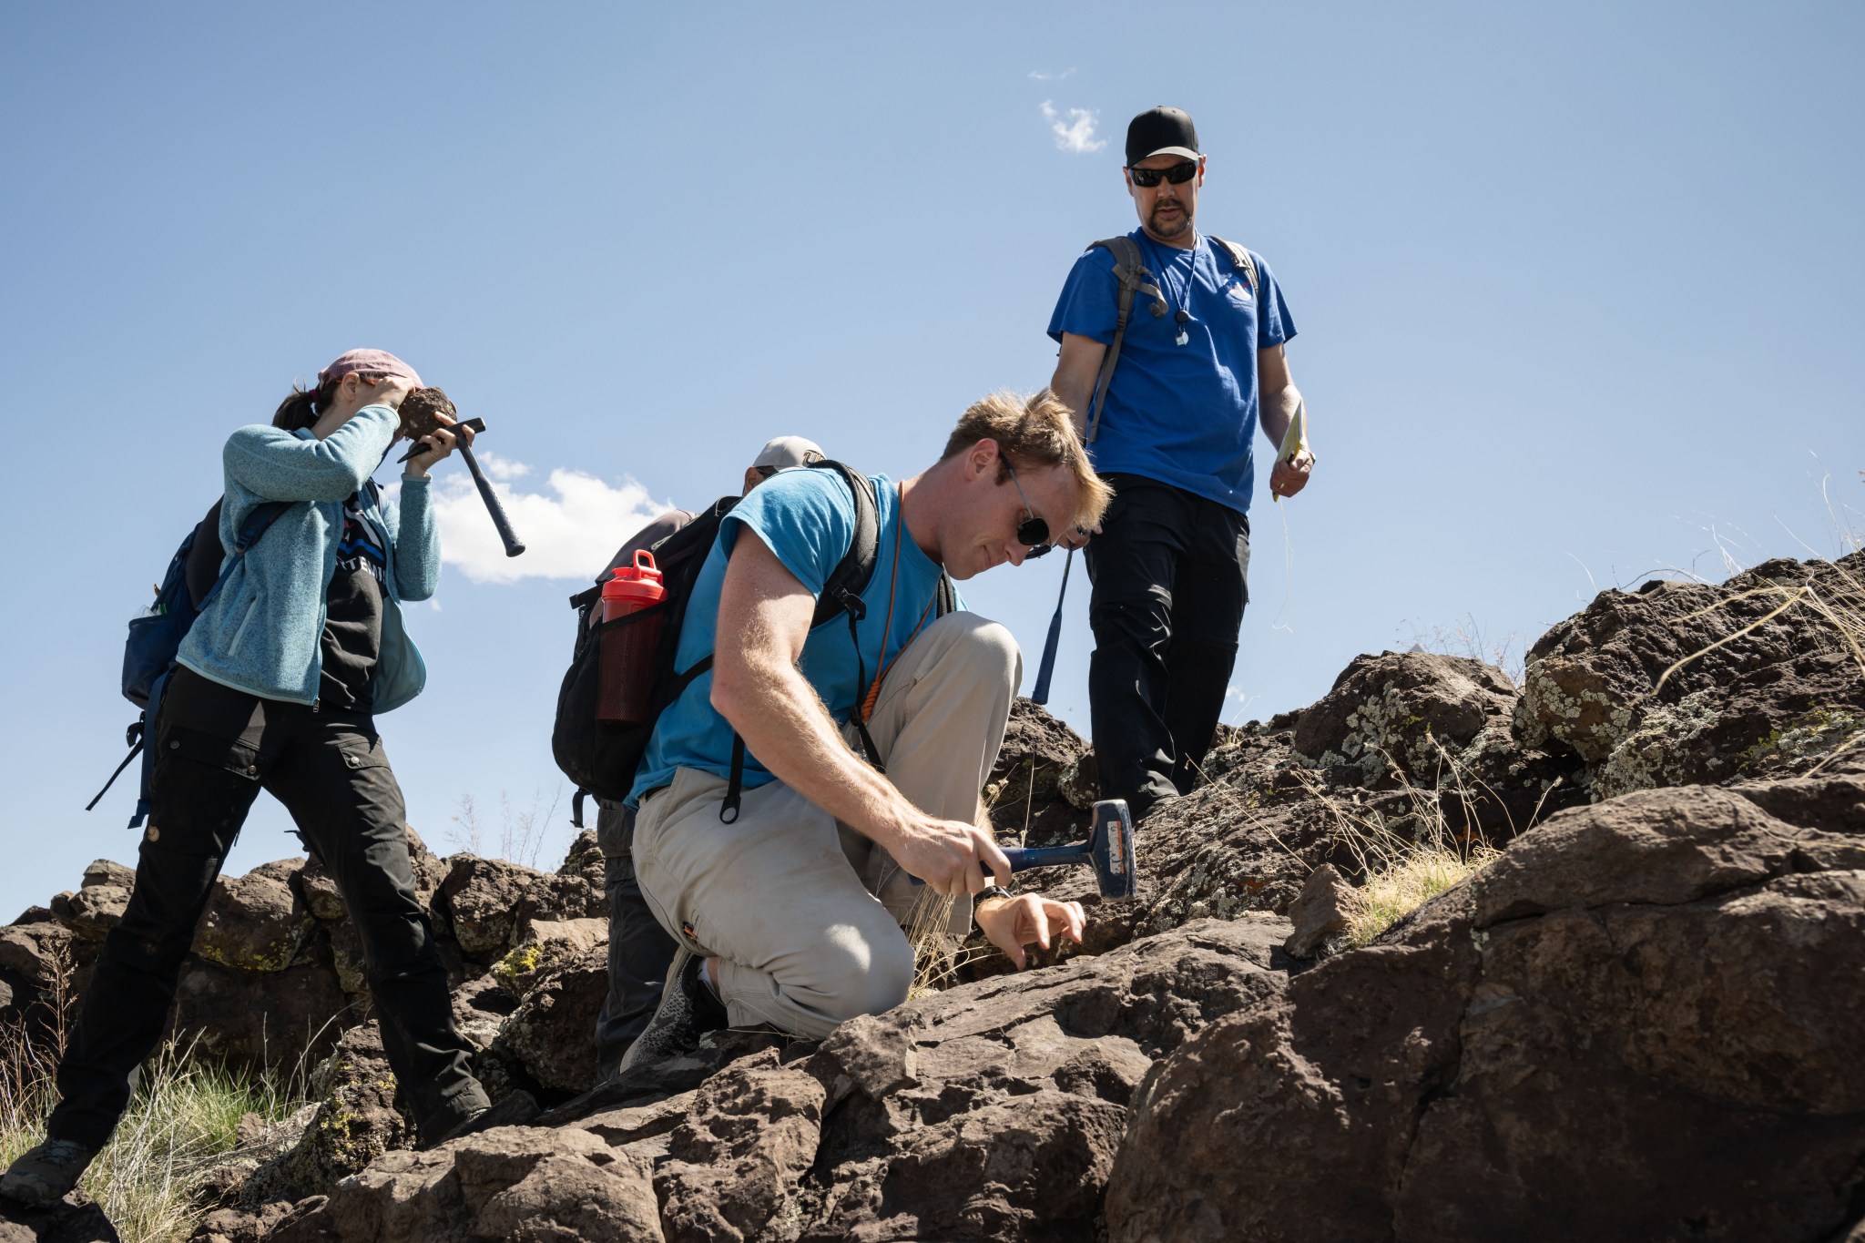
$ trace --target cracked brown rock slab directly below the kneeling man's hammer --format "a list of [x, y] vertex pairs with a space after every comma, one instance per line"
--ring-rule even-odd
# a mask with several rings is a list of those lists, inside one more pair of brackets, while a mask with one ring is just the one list
[[1089, 1237], [1154, 1057], [1274, 997], [1285, 921], [1205, 921], [929, 993], [582, 1126], [658, 1159], [668, 1239]]

